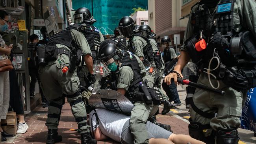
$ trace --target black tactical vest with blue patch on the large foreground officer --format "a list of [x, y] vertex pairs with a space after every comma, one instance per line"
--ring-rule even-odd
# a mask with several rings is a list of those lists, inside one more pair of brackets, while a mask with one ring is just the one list
[[[220, 39], [224, 36], [227, 37], [228, 41], [226, 42], [226, 47], [228, 47], [230, 38], [234, 37], [236, 34], [233, 30], [234, 2], [235, 0], [221, 0], [214, 13], [213, 9], [208, 9], [207, 6], [200, 2], [193, 6], [196, 7], [196, 11], [191, 13], [191, 25], [193, 26], [194, 36], [188, 39], [185, 44], [191, 42], [192, 45], [195, 45], [200, 38], [200, 31], [203, 31], [203, 38], [206, 43], [208, 43], [206, 50], [197, 52], [195, 51], [194, 46], [194, 48], [192, 48], [192, 51], [194, 52], [189, 51], [192, 61], [195, 64], [200, 65], [199, 67], [207, 67], [211, 57], [213, 57], [214, 49], [221, 47], [214, 45], [214, 42], [211, 44], [213, 39], [218, 39], [218, 37]], [[211, 18], [211, 15], [214, 15], [213, 18]], [[236, 57], [234, 57], [234, 55], [227, 55], [225, 48], [218, 49], [219, 57], [224, 65], [234, 66], [236, 63]]]

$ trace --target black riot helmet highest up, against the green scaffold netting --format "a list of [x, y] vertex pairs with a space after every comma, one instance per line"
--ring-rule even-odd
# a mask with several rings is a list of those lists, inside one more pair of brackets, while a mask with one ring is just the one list
[[75, 23], [89, 23], [93, 24], [96, 20], [91, 16], [91, 12], [86, 7], [80, 7], [74, 13]]

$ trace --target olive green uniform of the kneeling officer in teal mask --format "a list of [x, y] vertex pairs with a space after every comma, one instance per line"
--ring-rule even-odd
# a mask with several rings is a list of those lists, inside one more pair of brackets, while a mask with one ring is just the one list
[[[141, 68], [141, 76], [145, 76], [145, 66], [139, 57], [135, 57], [139, 62], [139, 67]], [[122, 66], [119, 71], [117, 89], [125, 89], [127, 91], [129, 85], [132, 83], [134, 72], [130, 66]], [[134, 144], [148, 144], [148, 132], [145, 126], [148, 118], [154, 115], [157, 110], [158, 106], [154, 104], [147, 105], [145, 102], [141, 101], [134, 103], [130, 119], [130, 129], [131, 133], [134, 135]]]

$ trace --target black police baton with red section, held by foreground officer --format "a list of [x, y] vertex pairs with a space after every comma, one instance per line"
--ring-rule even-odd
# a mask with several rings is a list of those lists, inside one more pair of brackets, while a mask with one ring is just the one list
[[222, 96], [225, 95], [225, 92], [223, 90], [217, 90], [217, 89], [213, 89], [213, 88], [210, 88], [210, 87], [206, 87], [205, 85], [194, 83], [194, 82], [189, 81], [187, 79], [177, 78], [177, 81], [178, 81], [178, 83], [181, 83], [182, 85], [188, 85], [190, 87], [195, 87], [195, 88], [198, 88], [198, 89], [207, 90], [207, 91], [214, 92], [214, 93], [222, 95]]

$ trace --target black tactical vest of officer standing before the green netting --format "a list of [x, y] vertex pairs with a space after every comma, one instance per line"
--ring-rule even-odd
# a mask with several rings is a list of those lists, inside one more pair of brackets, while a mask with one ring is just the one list
[[93, 60], [99, 60], [100, 52], [100, 32], [99, 30], [90, 24], [81, 24], [85, 29], [83, 33], [91, 48]]

